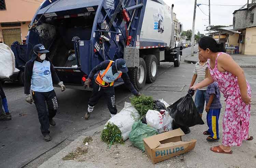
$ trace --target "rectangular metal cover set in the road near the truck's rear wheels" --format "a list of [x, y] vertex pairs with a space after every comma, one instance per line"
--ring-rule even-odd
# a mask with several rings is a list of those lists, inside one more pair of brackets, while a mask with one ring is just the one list
[[153, 84], [146, 90], [152, 91], [169, 91], [169, 92], [182, 92], [186, 85], [166, 85], [166, 84]]

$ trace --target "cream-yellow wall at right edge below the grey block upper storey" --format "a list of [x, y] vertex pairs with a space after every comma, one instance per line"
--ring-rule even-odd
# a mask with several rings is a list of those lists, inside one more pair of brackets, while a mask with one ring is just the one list
[[245, 34], [245, 55], [256, 55], [256, 27], [246, 29]]

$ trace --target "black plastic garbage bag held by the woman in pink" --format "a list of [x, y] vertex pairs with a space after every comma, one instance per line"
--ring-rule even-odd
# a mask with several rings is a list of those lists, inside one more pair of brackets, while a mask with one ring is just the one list
[[188, 91], [186, 96], [168, 107], [169, 114], [177, 125], [193, 127], [197, 124], [204, 124], [192, 98], [193, 94], [194, 91]]

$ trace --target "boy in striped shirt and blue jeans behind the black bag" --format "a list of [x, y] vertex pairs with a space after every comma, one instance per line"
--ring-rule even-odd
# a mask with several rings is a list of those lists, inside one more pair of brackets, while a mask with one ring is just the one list
[[[200, 83], [205, 79], [205, 70], [207, 69], [207, 59], [203, 58], [200, 54], [198, 55], [198, 57], [199, 57], [199, 62], [195, 64], [194, 75], [192, 77], [190, 87], [194, 86], [194, 83], [196, 80], [197, 80], [197, 83]], [[204, 110], [206, 89], [207, 87], [203, 87], [196, 91], [195, 105], [201, 117], [203, 115], [203, 110]]]

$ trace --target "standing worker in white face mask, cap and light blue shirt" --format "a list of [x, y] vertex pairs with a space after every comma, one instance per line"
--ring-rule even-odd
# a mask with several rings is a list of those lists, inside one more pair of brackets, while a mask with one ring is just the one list
[[[25, 66], [25, 100], [29, 104], [34, 102], [41, 124], [43, 139], [45, 141], [51, 141], [49, 125], [56, 125], [53, 117], [56, 115], [59, 107], [57, 96], [53, 88], [53, 82], [58, 83], [61, 87], [61, 91], [65, 91], [66, 88], [57, 76], [53, 64], [50, 62], [49, 58], [46, 57], [46, 53], [49, 51], [45, 49], [44, 45], [35, 45], [33, 52], [34, 54], [31, 60], [29, 60]], [[30, 94], [30, 88], [32, 95]], [[48, 106], [48, 110], [46, 109], [45, 102]]]

